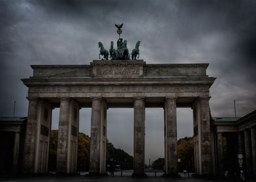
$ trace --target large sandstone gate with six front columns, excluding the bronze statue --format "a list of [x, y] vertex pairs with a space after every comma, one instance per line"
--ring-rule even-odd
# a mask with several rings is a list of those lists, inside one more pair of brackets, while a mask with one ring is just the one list
[[93, 60], [89, 65], [33, 65], [22, 79], [29, 100], [23, 171], [47, 172], [52, 109], [59, 107], [57, 173], [76, 172], [79, 110], [91, 107], [89, 174], [106, 173], [106, 112], [134, 108], [133, 175], [144, 175], [145, 108], [165, 110], [165, 173], [176, 175], [176, 108], [193, 109], [195, 170], [212, 174], [208, 64], [146, 64], [144, 60]]

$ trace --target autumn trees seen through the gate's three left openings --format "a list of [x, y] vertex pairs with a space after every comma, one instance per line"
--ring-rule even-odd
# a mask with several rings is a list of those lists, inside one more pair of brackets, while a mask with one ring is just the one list
[[[50, 150], [48, 171], [56, 171], [56, 158], [57, 158], [57, 130], [51, 131], [50, 136]], [[84, 133], [78, 133], [78, 155], [77, 155], [77, 170], [89, 170], [89, 147], [90, 138]], [[133, 168], [133, 157], [123, 151], [122, 149], [114, 148], [110, 142], [106, 143], [106, 164], [110, 159], [114, 159], [116, 165], [121, 165], [123, 169]]]

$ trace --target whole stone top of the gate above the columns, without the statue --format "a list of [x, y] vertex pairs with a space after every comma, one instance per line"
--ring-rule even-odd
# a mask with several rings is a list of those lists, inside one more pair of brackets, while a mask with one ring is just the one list
[[[208, 97], [215, 78], [208, 64], [146, 64], [93, 60], [90, 65], [37, 65], [22, 79], [28, 98]], [[121, 95], [120, 95], [121, 94]]]

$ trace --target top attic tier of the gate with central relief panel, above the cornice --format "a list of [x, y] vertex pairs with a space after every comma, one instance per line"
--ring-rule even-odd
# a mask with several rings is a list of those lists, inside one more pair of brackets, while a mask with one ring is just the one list
[[32, 65], [33, 77], [208, 77], [208, 64], [146, 64], [143, 60], [93, 60], [89, 65]]

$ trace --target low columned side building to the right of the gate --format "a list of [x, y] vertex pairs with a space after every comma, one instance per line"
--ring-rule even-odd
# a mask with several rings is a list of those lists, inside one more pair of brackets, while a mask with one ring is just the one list
[[212, 118], [216, 174], [256, 176], [256, 110], [242, 118]]

